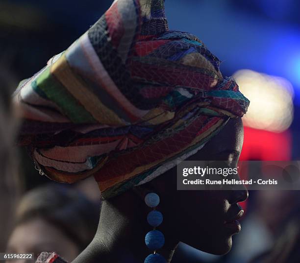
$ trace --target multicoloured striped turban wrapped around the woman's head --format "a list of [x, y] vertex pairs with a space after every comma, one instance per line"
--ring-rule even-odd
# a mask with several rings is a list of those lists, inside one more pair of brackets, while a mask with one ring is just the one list
[[249, 100], [194, 35], [170, 30], [163, 0], [115, 0], [14, 94], [40, 172], [94, 176], [102, 198], [150, 181], [199, 150]]

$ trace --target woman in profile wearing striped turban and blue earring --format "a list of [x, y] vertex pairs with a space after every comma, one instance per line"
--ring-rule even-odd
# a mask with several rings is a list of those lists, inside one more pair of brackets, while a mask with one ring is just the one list
[[[229, 251], [248, 192], [175, 183], [182, 160], [239, 158], [249, 100], [219, 65], [196, 36], [169, 30], [163, 0], [116, 0], [19, 86], [21, 144], [40, 172], [65, 183], [94, 176], [104, 200], [95, 239], [75, 263], [170, 262], [179, 241]], [[148, 221], [164, 236], [149, 233], [147, 248], [145, 217], [156, 206], [163, 222], [156, 212]]]

